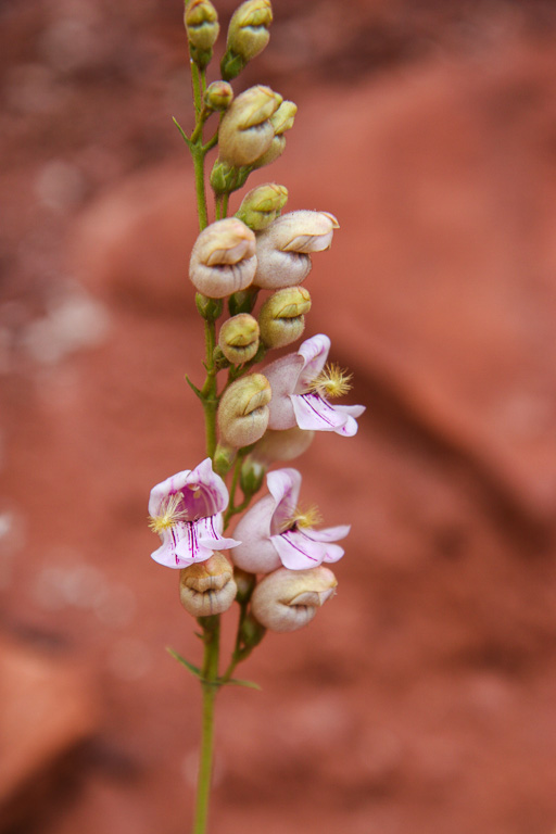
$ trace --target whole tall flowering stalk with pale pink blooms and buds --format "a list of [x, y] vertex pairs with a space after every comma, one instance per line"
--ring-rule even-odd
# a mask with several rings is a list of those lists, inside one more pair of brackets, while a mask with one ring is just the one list
[[[200, 680], [203, 693], [194, 834], [206, 831], [218, 691], [228, 683], [253, 685], [232, 675], [266, 630], [294, 631], [333, 596], [337, 580], [325, 564], [343, 556], [336, 542], [350, 531], [345, 525], [319, 528], [318, 513], [298, 505], [300, 472], [271, 467], [299, 457], [315, 431], [353, 437], [364, 412], [361, 405], [330, 402], [350, 390], [351, 375], [327, 365], [330, 340], [323, 333], [254, 370], [269, 352], [302, 336], [311, 295], [301, 285], [311, 271], [312, 254], [329, 249], [339, 228], [328, 212], [282, 214], [288, 190], [276, 182], [249, 191], [228, 216], [230, 194], [252, 170], [283, 152], [285, 134], [295, 117], [295, 104], [269, 87], [258, 85], [235, 96], [229, 84], [266, 47], [271, 21], [269, 0], [247, 0], [236, 10], [220, 79], [207, 86], [218, 15], [210, 0], [186, 2], [195, 122], [190, 136], [176, 125], [195, 174], [200, 233], [189, 277], [204, 320], [206, 370], [202, 386], [187, 381], [204, 410], [206, 457], [154, 486], [149, 514], [150, 527], [161, 538], [152, 558], [180, 570], [180, 602], [198, 619], [204, 643], [201, 667], [172, 652]], [[218, 127], [205, 140], [205, 125], [215, 114]], [[217, 156], [210, 174], [210, 223], [205, 161], [213, 148]], [[265, 292], [270, 294], [260, 303]], [[265, 475], [268, 494], [250, 507]], [[230, 522], [244, 510], [230, 536]], [[220, 671], [220, 615], [235, 603], [236, 644]]]

